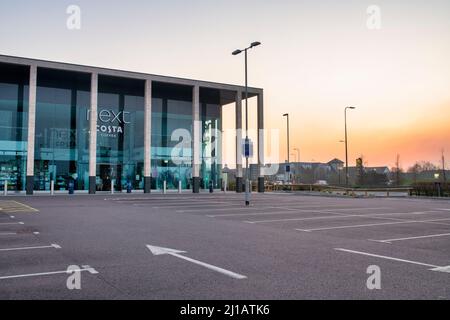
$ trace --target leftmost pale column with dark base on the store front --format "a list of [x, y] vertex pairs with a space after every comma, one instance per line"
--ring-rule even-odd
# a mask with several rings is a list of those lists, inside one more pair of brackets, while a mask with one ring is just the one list
[[30, 85], [28, 96], [28, 146], [27, 146], [27, 182], [28, 195], [33, 194], [34, 189], [34, 136], [36, 129], [36, 91], [37, 91], [37, 66], [30, 66]]

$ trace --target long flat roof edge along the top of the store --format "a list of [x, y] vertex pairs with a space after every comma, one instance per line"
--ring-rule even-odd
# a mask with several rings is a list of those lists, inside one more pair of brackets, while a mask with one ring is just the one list
[[[122, 77], [122, 78], [151, 80], [151, 81], [186, 85], [186, 86], [192, 86], [192, 87], [199, 86], [201, 88], [219, 89], [219, 90], [223, 91], [224, 96], [227, 96], [227, 98], [225, 98], [224, 100], [226, 100], [227, 102], [229, 101], [228, 103], [231, 103], [234, 101], [234, 95], [232, 94], [232, 92], [235, 92], [235, 91], [245, 92], [244, 86], [238, 86], [238, 85], [232, 85], [232, 84], [177, 78], [177, 77], [169, 77], [169, 76], [161, 76], [161, 75], [141, 73], [141, 72], [124, 71], [124, 70], [117, 70], [117, 69], [77, 65], [77, 64], [72, 64], [72, 63], [46, 61], [46, 60], [39, 60], [39, 59], [30, 59], [30, 58], [23, 58], [23, 57], [14, 57], [14, 56], [7, 56], [7, 55], [0, 55], [0, 63], [30, 65], [30, 66], [35, 65], [38, 68], [40, 67], [40, 68], [58, 69], [58, 70], [66, 70], [66, 71], [77, 71], [77, 72], [84, 72], [84, 73], [98, 73], [101, 75], [108, 75], [108, 76], [115, 76], [115, 77]], [[226, 91], [232, 91], [232, 92], [226, 92]], [[249, 93], [249, 97], [251, 98], [258, 94], [262, 94], [263, 89], [249, 87], [248, 93]]]

